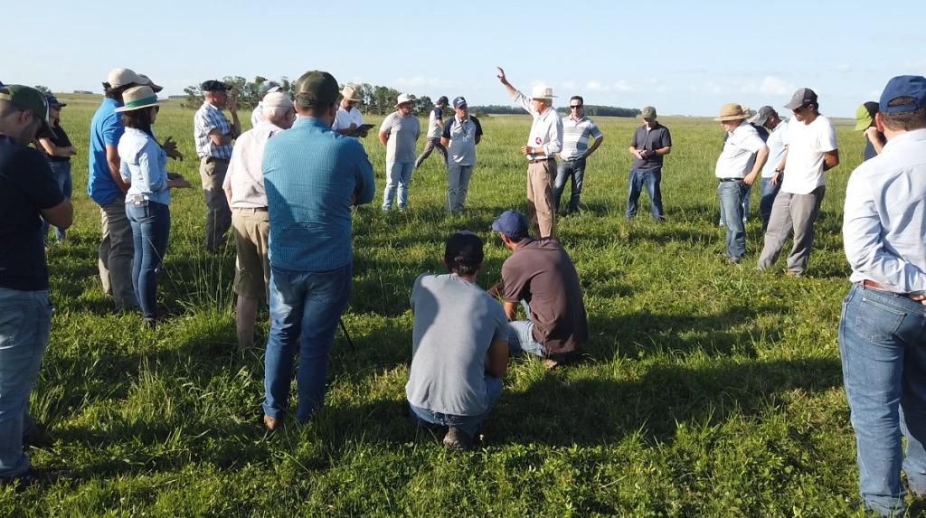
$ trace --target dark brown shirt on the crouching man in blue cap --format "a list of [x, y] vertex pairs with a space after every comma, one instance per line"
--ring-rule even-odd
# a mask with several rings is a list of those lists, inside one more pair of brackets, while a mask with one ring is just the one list
[[525, 239], [502, 265], [506, 302], [531, 306], [533, 339], [547, 352], [576, 351], [588, 339], [579, 274], [556, 238]]

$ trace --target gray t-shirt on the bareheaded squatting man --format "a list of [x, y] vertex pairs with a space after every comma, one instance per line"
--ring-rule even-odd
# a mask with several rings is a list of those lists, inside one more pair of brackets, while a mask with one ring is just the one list
[[485, 356], [492, 342], [508, 341], [501, 304], [456, 274], [421, 275], [411, 290], [411, 309], [408, 402], [438, 413], [485, 413]]

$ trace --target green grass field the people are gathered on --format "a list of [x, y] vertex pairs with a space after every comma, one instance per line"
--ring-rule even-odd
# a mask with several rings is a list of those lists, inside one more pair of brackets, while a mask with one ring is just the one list
[[[193, 111], [168, 105], [156, 124], [180, 143], [186, 160], [171, 166], [195, 188], [174, 195], [159, 292], [172, 316], [150, 331], [140, 315], [112, 311], [100, 290], [99, 212], [86, 194], [99, 99], [65, 99], [62, 125], [81, 150], [77, 218], [69, 242], [49, 253], [56, 314], [31, 407], [54, 438], [32, 460], [62, 477], [0, 493], [0, 515], [856, 515], [836, 342], [848, 289], [842, 203], [862, 150], [848, 125], [839, 126], [843, 162], [828, 173], [807, 277], [795, 279], [783, 266], [757, 272], [757, 217], [743, 265], [723, 259], [713, 179], [720, 124], [662, 120], [674, 145], [663, 174], [668, 221], [657, 225], [646, 201], [643, 217], [623, 217], [626, 149], [639, 121], [597, 119], [606, 142], [589, 160], [585, 211], [557, 228], [582, 277], [587, 361], [548, 372], [512, 360], [484, 448], [455, 454], [416, 436], [403, 416], [409, 290], [419, 273], [442, 272], [444, 240], [462, 228], [487, 242], [480, 284], [498, 280], [508, 253], [490, 224], [507, 208], [524, 210], [518, 149], [528, 117], [482, 119], [465, 216], [445, 216], [437, 154], [415, 172], [406, 214], [384, 215], [379, 202], [357, 211], [344, 314], [357, 351], [339, 335], [324, 410], [268, 436], [258, 423], [261, 354], [233, 352], [233, 248], [203, 251]], [[384, 151], [372, 135], [365, 145], [380, 200]]]

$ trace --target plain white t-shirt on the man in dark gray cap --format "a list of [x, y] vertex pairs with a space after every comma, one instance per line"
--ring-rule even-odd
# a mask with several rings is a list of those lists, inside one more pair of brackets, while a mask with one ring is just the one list
[[829, 118], [818, 116], [810, 124], [799, 120], [788, 125], [788, 158], [784, 165], [782, 191], [809, 194], [826, 185], [823, 157], [838, 148], [836, 129]]

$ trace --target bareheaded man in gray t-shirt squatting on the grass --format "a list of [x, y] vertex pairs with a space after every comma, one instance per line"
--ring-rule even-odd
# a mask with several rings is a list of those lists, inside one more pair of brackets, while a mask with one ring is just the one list
[[465, 450], [502, 393], [507, 317], [476, 284], [482, 267], [478, 236], [451, 236], [444, 265], [450, 274], [421, 275], [411, 292], [415, 327], [406, 396], [414, 421], [447, 426], [444, 445]]

